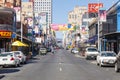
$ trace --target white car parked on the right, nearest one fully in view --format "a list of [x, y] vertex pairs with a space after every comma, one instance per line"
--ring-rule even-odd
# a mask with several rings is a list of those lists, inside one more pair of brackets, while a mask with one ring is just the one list
[[99, 66], [114, 66], [116, 61], [116, 53], [113, 51], [102, 51], [97, 56], [97, 65]]

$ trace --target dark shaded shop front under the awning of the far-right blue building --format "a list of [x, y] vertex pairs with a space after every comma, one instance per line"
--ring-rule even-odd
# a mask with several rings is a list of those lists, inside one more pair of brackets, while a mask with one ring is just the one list
[[106, 51], [114, 51], [118, 53], [120, 51], [120, 32], [113, 32], [104, 35], [105, 41], [102, 46]]

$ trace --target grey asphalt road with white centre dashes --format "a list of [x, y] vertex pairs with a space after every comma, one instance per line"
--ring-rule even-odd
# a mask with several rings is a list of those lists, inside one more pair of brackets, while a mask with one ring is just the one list
[[114, 67], [99, 67], [66, 50], [36, 56], [19, 68], [3, 68], [0, 75], [5, 75], [1, 80], [120, 80]]

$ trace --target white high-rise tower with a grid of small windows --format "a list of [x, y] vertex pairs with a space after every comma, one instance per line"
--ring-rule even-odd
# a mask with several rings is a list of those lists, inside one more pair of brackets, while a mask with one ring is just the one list
[[34, 12], [39, 14], [46, 13], [47, 28], [45, 32], [47, 33], [47, 30], [50, 29], [49, 25], [52, 23], [52, 0], [34, 0]]

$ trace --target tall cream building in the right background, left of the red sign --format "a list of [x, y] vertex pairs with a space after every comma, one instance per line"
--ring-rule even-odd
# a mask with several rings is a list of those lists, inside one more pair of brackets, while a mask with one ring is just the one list
[[87, 7], [85, 6], [75, 6], [72, 11], [68, 13], [68, 24], [74, 27], [73, 31], [69, 31], [68, 36], [66, 36], [66, 44], [79, 47], [79, 43], [84, 41], [86, 35], [87, 24], [83, 24], [83, 15], [87, 12]]

